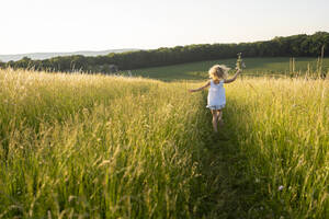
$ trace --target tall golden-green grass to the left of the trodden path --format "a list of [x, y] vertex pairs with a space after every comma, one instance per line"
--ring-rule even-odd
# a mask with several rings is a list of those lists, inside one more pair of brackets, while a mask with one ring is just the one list
[[0, 218], [191, 217], [204, 113], [185, 88], [1, 70]]

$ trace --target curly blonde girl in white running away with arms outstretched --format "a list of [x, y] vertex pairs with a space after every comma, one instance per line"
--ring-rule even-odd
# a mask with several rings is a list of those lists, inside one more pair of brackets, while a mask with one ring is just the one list
[[208, 81], [204, 87], [194, 90], [189, 90], [190, 92], [196, 92], [211, 87], [208, 90], [208, 104], [206, 107], [212, 111], [213, 127], [215, 132], [217, 132], [217, 120], [219, 124], [223, 124], [222, 110], [225, 107], [226, 104], [225, 89], [223, 84], [234, 82], [241, 72], [241, 70], [238, 69], [231, 79], [227, 79], [228, 70], [229, 68], [227, 68], [226, 66], [215, 65], [208, 71], [209, 77], [212, 79], [211, 81]]

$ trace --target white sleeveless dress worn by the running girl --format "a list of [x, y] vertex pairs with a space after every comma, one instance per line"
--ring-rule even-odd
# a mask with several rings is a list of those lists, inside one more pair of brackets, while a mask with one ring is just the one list
[[226, 97], [225, 97], [225, 89], [223, 87], [224, 80], [219, 81], [219, 83], [214, 83], [211, 80], [211, 88], [208, 90], [208, 104], [207, 108], [209, 110], [222, 110], [225, 107]]

